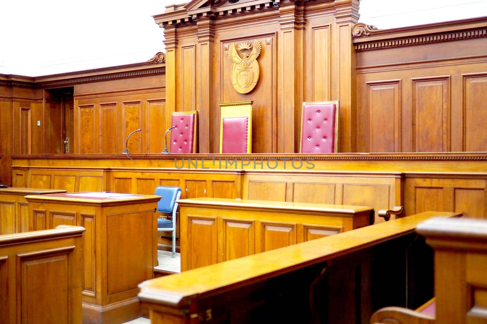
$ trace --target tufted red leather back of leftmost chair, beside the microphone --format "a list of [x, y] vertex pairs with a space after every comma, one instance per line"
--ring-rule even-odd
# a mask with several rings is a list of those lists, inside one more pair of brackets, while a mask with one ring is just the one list
[[171, 153], [194, 153], [195, 114], [173, 114], [171, 118]]

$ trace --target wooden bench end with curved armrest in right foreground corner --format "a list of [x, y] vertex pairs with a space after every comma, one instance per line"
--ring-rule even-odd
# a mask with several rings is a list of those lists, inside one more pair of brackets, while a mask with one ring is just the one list
[[431, 219], [420, 224], [417, 232], [435, 252], [435, 316], [386, 307], [374, 314], [371, 323], [486, 323], [487, 222]]

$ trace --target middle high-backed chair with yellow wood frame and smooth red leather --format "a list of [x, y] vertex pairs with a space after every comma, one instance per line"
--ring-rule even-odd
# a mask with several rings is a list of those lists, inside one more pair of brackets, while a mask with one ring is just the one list
[[219, 103], [220, 153], [252, 152], [253, 101]]

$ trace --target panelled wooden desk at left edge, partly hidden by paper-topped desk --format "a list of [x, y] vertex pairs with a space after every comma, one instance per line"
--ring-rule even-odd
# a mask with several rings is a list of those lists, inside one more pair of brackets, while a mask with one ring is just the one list
[[27, 200], [32, 194], [62, 193], [60, 189], [0, 188], [0, 235], [44, 229], [35, 227], [29, 218]]

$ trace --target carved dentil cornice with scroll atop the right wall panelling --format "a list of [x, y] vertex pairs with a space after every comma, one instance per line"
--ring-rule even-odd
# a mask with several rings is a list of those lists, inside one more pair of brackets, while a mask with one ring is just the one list
[[464, 19], [405, 28], [377, 29], [357, 23], [352, 30], [355, 50], [371, 51], [487, 37], [487, 18]]

